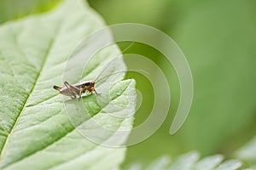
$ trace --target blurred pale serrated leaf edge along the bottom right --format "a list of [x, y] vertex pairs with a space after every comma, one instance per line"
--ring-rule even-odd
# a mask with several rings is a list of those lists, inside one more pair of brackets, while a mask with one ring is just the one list
[[140, 169], [150, 169], [150, 170], [253, 170], [256, 168], [255, 162], [255, 152], [256, 152], [256, 137], [251, 141], [241, 147], [241, 149], [236, 150], [236, 159], [224, 160], [224, 156], [215, 155], [202, 157], [198, 152], [193, 151], [178, 158], [174, 161], [171, 160], [170, 156], [161, 156], [160, 158], [154, 160], [147, 167], [143, 166], [142, 163], [136, 161], [126, 166], [125, 170], [140, 170]]

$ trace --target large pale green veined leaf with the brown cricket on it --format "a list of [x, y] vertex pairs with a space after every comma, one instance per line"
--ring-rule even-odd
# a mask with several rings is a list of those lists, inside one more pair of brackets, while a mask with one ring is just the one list
[[[49, 13], [0, 27], [1, 169], [119, 167], [125, 148], [113, 149], [95, 144], [76, 129], [83, 129], [83, 123], [92, 119], [115, 131], [127, 129], [131, 127], [132, 117], [124, 119], [111, 116], [108, 114], [111, 110], [106, 112], [97, 103], [95, 95], [64, 103], [61, 94], [52, 88], [52, 85], [60, 85], [63, 81], [68, 55], [77, 43], [102, 26], [102, 20], [82, 0], [67, 0]], [[81, 72], [83, 79], [76, 81], [96, 78], [116, 54], [119, 54], [116, 47], [102, 50], [91, 60], [89, 69]], [[109, 67], [117, 71], [125, 64], [119, 60]], [[109, 80], [101, 86], [104, 87], [107, 82]], [[120, 111], [124, 110], [123, 115], [131, 115], [135, 111], [134, 87], [133, 80], [119, 80], [113, 83], [109, 92], [112, 97], [109, 103], [113, 102]], [[131, 102], [126, 102], [127, 96]], [[79, 110], [72, 112], [86, 117], [84, 122], [75, 124], [78, 127], [75, 128], [65, 106], [80, 102], [89, 109], [83, 113], [77, 112]], [[105, 106], [109, 103], [105, 102]], [[108, 140], [113, 133], [102, 134], [102, 138]], [[126, 139], [127, 135], [121, 137]]]

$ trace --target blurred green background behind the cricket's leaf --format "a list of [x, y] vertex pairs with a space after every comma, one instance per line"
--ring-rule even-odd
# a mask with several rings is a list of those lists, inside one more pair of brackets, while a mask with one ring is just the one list
[[[53, 8], [59, 1], [0, 0], [0, 22]], [[143, 54], [165, 72], [172, 92], [166, 122], [152, 137], [130, 146], [123, 166], [144, 164], [190, 150], [202, 156], [232, 153], [256, 134], [256, 1], [255, 0], [89, 0], [107, 25], [136, 22], [164, 31], [182, 49], [194, 78], [194, 100], [189, 117], [169, 135], [179, 101], [178, 80], [172, 65], [157, 51], [135, 44], [125, 53]], [[154, 38], [154, 37], [152, 37]], [[121, 48], [127, 43], [121, 43]], [[154, 102], [149, 82], [137, 80], [143, 105], [135, 125], [143, 122]], [[157, 93], [157, 92], [156, 92]]]

